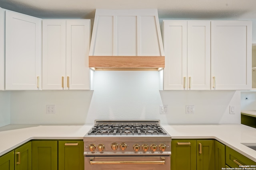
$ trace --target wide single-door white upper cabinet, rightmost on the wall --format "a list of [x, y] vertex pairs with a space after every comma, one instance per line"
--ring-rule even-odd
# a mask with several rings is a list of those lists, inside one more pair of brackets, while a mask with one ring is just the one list
[[251, 21], [212, 21], [211, 31], [211, 89], [251, 89]]

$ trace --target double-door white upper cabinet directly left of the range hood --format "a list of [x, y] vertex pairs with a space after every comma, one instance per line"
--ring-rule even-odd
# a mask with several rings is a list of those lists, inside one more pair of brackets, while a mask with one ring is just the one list
[[43, 20], [43, 90], [89, 90], [90, 20]]

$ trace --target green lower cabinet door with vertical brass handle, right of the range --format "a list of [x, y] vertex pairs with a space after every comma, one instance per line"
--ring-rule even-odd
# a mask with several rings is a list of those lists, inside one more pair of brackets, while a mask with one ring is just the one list
[[214, 140], [198, 140], [197, 170], [215, 170]]

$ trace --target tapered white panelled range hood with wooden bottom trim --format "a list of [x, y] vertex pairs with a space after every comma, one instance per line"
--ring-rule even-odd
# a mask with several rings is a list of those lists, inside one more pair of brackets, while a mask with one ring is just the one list
[[157, 10], [96, 9], [89, 53], [93, 70], [161, 70]]

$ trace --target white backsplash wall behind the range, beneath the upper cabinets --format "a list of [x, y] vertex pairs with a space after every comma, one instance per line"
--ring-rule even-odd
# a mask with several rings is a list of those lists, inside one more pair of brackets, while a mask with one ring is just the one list
[[[254, 27], [256, 23], [252, 21]], [[252, 35], [255, 42], [254, 30]], [[1, 91], [0, 125], [93, 124], [94, 119], [160, 119], [161, 124], [240, 123], [239, 91], [159, 91], [158, 80], [158, 72], [154, 71], [96, 71], [94, 91]], [[55, 105], [56, 113], [46, 114], [46, 105]], [[168, 105], [167, 114], [160, 114], [160, 105]], [[193, 115], [185, 114], [187, 105], [195, 107]], [[229, 106], [235, 106], [235, 114], [229, 114]]]

